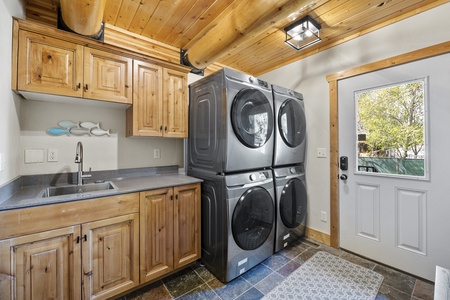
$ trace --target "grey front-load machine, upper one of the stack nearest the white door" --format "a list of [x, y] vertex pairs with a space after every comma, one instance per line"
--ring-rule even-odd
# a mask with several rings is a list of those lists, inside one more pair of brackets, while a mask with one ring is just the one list
[[273, 166], [303, 163], [306, 146], [303, 95], [274, 84], [272, 92], [275, 111]]

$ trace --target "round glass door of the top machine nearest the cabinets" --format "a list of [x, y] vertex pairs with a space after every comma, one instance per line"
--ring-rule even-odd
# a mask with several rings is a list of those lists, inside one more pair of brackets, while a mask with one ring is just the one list
[[273, 131], [273, 112], [269, 99], [259, 90], [240, 90], [231, 106], [231, 123], [239, 141], [249, 148], [259, 148]]

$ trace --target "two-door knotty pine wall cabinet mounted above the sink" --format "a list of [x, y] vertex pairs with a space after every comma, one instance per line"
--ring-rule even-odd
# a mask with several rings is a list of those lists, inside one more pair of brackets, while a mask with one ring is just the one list
[[131, 58], [24, 30], [18, 52], [19, 91], [132, 103]]

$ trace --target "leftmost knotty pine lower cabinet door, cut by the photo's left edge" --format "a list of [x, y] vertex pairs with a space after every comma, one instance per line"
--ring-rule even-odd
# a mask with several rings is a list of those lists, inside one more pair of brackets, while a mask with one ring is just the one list
[[80, 226], [0, 241], [1, 299], [81, 299]]

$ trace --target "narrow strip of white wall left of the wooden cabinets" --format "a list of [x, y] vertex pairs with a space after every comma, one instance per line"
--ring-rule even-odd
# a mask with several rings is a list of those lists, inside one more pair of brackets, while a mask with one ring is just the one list
[[0, 185], [19, 176], [20, 98], [11, 91], [12, 15], [24, 15], [19, 1], [0, 1]]

